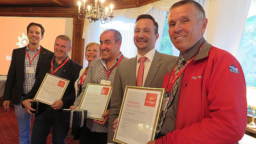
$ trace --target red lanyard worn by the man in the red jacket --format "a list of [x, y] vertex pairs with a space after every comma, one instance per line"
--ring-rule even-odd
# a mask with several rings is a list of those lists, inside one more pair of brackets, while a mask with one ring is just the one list
[[[199, 48], [199, 52], [201, 50], [201, 48], [203, 47], [204, 43], [200, 46]], [[199, 53], [198, 52], [198, 53]], [[166, 92], [171, 92], [171, 88], [172, 86], [174, 85], [174, 83], [176, 82], [176, 80], [182, 75], [182, 72], [185, 70], [185, 68], [187, 67], [187, 65], [193, 61], [193, 59], [198, 55], [198, 53], [196, 55], [194, 55], [192, 57], [192, 59], [188, 60], [187, 63], [183, 66], [183, 68], [175, 75], [175, 72], [176, 72], [176, 68], [177, 68], [177, 65], [175, 66], [175, 68], [173, 69], [173, 71], [171, 72], [171, 76], [170, 76], [170, 79], [169, 79], [169, 83], [167, 85], [167, 89], [166, 89]], [[165, 80], [164, 80], [165, 81]], [[164, 82], [165, 83], [165, 82]]]

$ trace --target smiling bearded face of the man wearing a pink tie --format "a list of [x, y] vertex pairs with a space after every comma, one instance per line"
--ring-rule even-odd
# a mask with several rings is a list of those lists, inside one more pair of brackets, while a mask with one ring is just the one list
[[138, 48], [138, 53], [142, 55], [148, 53], [155, 47], [159, 34], [155, 34], [154, 23], [151, 19], [142, 18], [137, 21], [134, 28], [134, 44]]

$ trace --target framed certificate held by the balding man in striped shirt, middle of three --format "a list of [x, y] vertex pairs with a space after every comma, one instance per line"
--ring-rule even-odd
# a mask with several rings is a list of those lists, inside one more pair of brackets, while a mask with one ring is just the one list
[[102, 114], [107, 111], [111, 92], [112, 85], [88, 83], [79, 109], [87, 110], [87, 118], [103, 121]]

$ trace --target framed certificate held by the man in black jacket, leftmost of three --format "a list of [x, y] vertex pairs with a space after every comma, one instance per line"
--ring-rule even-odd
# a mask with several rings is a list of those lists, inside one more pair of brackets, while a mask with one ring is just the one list
[[62, 98], [68, 83], [69, 80], [47, 73], [34, 100], [51, 105], [54, 101]]

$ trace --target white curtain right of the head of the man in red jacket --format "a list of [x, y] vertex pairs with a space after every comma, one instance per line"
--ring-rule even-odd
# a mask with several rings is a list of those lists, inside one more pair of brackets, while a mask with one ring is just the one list
[[251, 0], [205, 0], [205, 39], [236, 56]]

